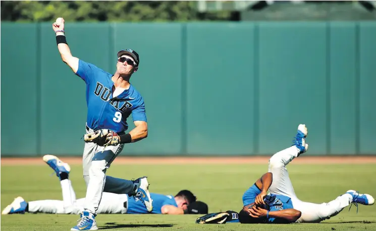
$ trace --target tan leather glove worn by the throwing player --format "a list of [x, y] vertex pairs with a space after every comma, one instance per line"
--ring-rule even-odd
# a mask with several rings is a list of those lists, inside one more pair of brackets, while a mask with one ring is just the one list
[[119, 135], [110, 129], [99, 129], [92, 133], [84, 134], [85, 142], [93, 142], [99, 146], [118, 145]]

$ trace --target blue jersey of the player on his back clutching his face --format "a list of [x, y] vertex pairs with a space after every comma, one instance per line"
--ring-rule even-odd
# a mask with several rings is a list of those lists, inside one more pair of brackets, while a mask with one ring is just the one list
[[[243, 194], [243, 206], [254, 203], [256, 196], [261, 192], [261, 190], [256, 186], [252, 185], [245, 193]], [[277, 211], [288, 208], [294, 208], [292, 205], [291, 198], [288, 196], [270, 194], [270, 196], [275, 197], [272, 203], [270, 203], [269, 211]], [[276, 218], [265, 218], [265, 223], [279, 223], [280, 221]]]

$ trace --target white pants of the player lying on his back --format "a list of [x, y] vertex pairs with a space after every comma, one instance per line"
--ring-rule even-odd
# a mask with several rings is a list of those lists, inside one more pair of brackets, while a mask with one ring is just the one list
[[277, 152], [269, 160], [268, 172], [273, 173], [273, 183], [269, 188], [270, 193], [285, 195], [291, 198], [294, 209], [301, 211], [302, 215], [296, 222], [320, 222], [337, 215], [352, 201], [352, 196], [345, 193], [329, 203], [314, 204], [298, 199], [289, 178], [286, 165], [298, 156], [299, 149], [291, 146]]

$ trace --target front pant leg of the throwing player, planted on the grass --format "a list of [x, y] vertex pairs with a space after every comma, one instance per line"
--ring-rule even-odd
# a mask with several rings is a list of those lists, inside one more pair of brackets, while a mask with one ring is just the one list
[[[89, 129], [86, 132], [90, 133], [93, 130]], [[105, 184], [105, 172], [122, 151], [123, 146], [124, 144], [102, 147], [85, 143], [83, 169], [87, 189], [84, 208], [91, 213], [96, 214], [98, 209]]]

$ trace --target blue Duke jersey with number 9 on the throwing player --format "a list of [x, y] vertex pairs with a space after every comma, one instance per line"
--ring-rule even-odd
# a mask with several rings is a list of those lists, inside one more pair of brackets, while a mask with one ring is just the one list
[[147, 122], [144, 100], [132, 85], [119, 96], [113, 97], [113, 74], [81, 59], [76, 75], [86, 83], [86, 122], [91, 129], [125, 131], [128, 129], [127, 118], [131, 113], [133, 121]]

